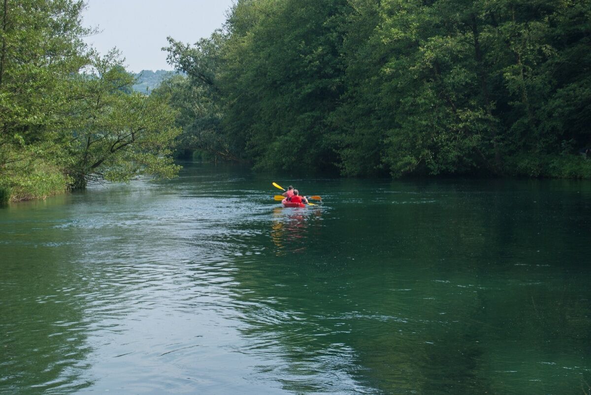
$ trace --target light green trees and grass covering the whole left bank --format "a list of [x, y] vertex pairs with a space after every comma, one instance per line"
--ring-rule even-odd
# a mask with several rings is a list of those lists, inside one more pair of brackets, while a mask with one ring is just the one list
[[112, 51], [86, 47], [79, 0], [0, 3], [0, 200], [45, 197], [89, 179], [176, 172], [168, 98], [132, 92]]

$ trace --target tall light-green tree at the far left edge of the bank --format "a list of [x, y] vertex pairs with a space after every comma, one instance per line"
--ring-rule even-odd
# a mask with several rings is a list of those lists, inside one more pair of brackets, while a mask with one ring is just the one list
[[[0, 189], [12, 198], [65, 188], [56, 165], [70, 127], [73, 76], [88, 61], [83, 1], [0, 2]], [[43, 185], [42, 185], [43, 184]]]

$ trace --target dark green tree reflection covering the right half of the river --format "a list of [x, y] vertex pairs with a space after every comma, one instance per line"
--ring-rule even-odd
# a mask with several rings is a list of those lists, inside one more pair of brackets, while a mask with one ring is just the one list
[[[446, 195], [440, 188], [412, 191], [428, 204], [349, 206], [323, 234], [304, 218], [301, 256], [291, 254], [298, 239], [285, 236], [289, 217], [274, 213], [271, 238], [282, 259], [262, 257], [259, 278], [236, 273], [256, 306], [244, 333], [262, 354], [272, 345], [288, 361], [270, 369], [281, 375], [308, 363], [300, 374], [317, 391], [330, 388], [329, 370], [386, 393], [579, 388], [586, 365], [574, 361], [591, 351], [591, 311], [584, 279], [573, 275], [585, 255], [565, 246], [588, 234], [584, 202], [511, 184], [488, 192], [473, 185], [474, 193], [444, 185]], [[532, 201], [540, 208], [530, 210]]]

